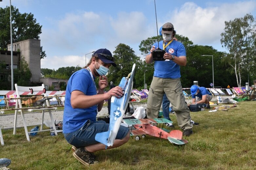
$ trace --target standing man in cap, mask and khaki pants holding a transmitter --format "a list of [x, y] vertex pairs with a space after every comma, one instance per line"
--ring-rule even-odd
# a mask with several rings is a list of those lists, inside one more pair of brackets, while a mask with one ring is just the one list
[[154, 61], [154, 76], [149, 88], [147, 116], [157, 118], [161, 107], [164, 93], [173, 106], [179, 127], [183, 135], [189, 136], [193, 133], [193, 125], [185, 97], [182, 92], [180, 81], [180, 66], [186, 66], [186, 50], [181, 42], [173, 40], [176, 31], [172, 23], [165, 23], [162, 26], [163, 41], [154, 43], [150, 53], [146, 56], [146, 63], [153, 62], [153, 51], [162, 48], [166, 51], [165, 61]]

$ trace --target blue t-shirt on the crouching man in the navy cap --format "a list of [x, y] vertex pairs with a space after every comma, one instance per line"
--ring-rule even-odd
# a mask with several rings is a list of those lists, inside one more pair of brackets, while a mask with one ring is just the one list
[[87, 69], [76, 71], [69, 78], [65, 96], [63, 133], [70, 133], [78, 130], [87, 120], [96, 121], [97, 105], [84, 109], [72, 108], [70, 98], [71, 92], [74, 90], [79, 90], [89, 96], [97, 94], [95, 85]]

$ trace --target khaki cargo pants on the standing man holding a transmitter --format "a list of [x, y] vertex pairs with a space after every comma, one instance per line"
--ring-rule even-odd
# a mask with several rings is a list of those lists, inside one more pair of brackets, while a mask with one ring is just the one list
[[173, 106], [177, 122], [182, 130], [192, 129], [190, 112], [182, 92], [180, 78], [158, 78], [153, 77], [148, 93], [147, 116], [157, 118], [162, 104], [163, 95], [166, 94]]

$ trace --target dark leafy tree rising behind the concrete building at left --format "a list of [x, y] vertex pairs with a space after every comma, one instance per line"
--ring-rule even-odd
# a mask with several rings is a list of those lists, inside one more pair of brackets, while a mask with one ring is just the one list
[[[0, 8], [0, 16], [0, 48], [7, 50], [10, 44], [10, 7]], [[21, 14], [18, 8], [11, 6], [11, 16], [13, 42], [40, 38], [42, 25], [36, 23], [33, 14]]]

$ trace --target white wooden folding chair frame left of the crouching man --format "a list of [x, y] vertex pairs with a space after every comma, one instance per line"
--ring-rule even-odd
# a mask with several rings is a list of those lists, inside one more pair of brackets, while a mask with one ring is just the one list
[[[15, 89], [16, 89], [16, 94], [17, 94], [17, 98], [20, 98], [20, 94], [28, 94], [28, 91], [30, 92], [34, 92], [34, 94], [37, 94], [37, 95], [43, 95], [43, 91], [45, 89], [45, 85], [42, 84], [41, 86], [34, 86], [34, 87], [25, 87], [25, 86], [18, 86], [17, 84], [15, 84]], [[32, 89], [32, 90], [31, 90]], [[36, 93], [35, 93], [36, 92]], [[46, 97], [47, 95], [44, 94], [44, 96]], [[46, 104], [47, 106], [50, 106], [49, 104], [49, 101], [46, 100]], [[20, 108], [18, 110], [18, 108]], [[14, 115], [14, 128], [13, 128], [13, 134], [16, 134], [16, 128], [17, 128], [17, 114], [18, 112], [21, 113], [21, 117], [22, 117], [22, 120], [23, 120], [23, 125], [24, 125], [24, 129], [25, 129], [25, 134], [26, 134], [26, 137], [27, 137], [27, 140], [30, 141], [30, 137], [29, 137], [29, 133], [34, 133], [34, 132], [40, 132], [40, 131], [50, 131], [51, 129], [47, 129], [47, 130], [43, 130], [43, 125], [44, 125], [44, 114], [45, 114], [45, 110], [49, 111], [49, 116], [50, 116], [50, 119], [51, 119], [51, 125], [52, 125], [52, 128], [54, 130], [54, 133], [55, 135], [57, 136], [57, 131], [56, 131], [56, 127], [55, 127], [55, 124], [54, 124], [54, 121], [53, 121], [53, 118], [52, 118], [52, 114], [51, 114], [51, 110], [57, 110], [57, 107], [53, 107], [53, 108], [40, 108], [40, 109], [26, 109], [26, 108], [23, 108], [22, 107], [22, 104], [21, 104], [21, 100], [20, 99], [17, 99], [16, 100], [16, 106], [15, 106], [15, 115]], [[42, 121], [41, 121], [41, 128], [39, 131], [33, 131], [33, 132], [28, 132], [28, 128], [27, 128], [27, 123], [26, 123], [26, 119], [25, 119], [25, 116], [24, 116], [24, 112], [31, 112], [33, 110], [42, 110]]]

